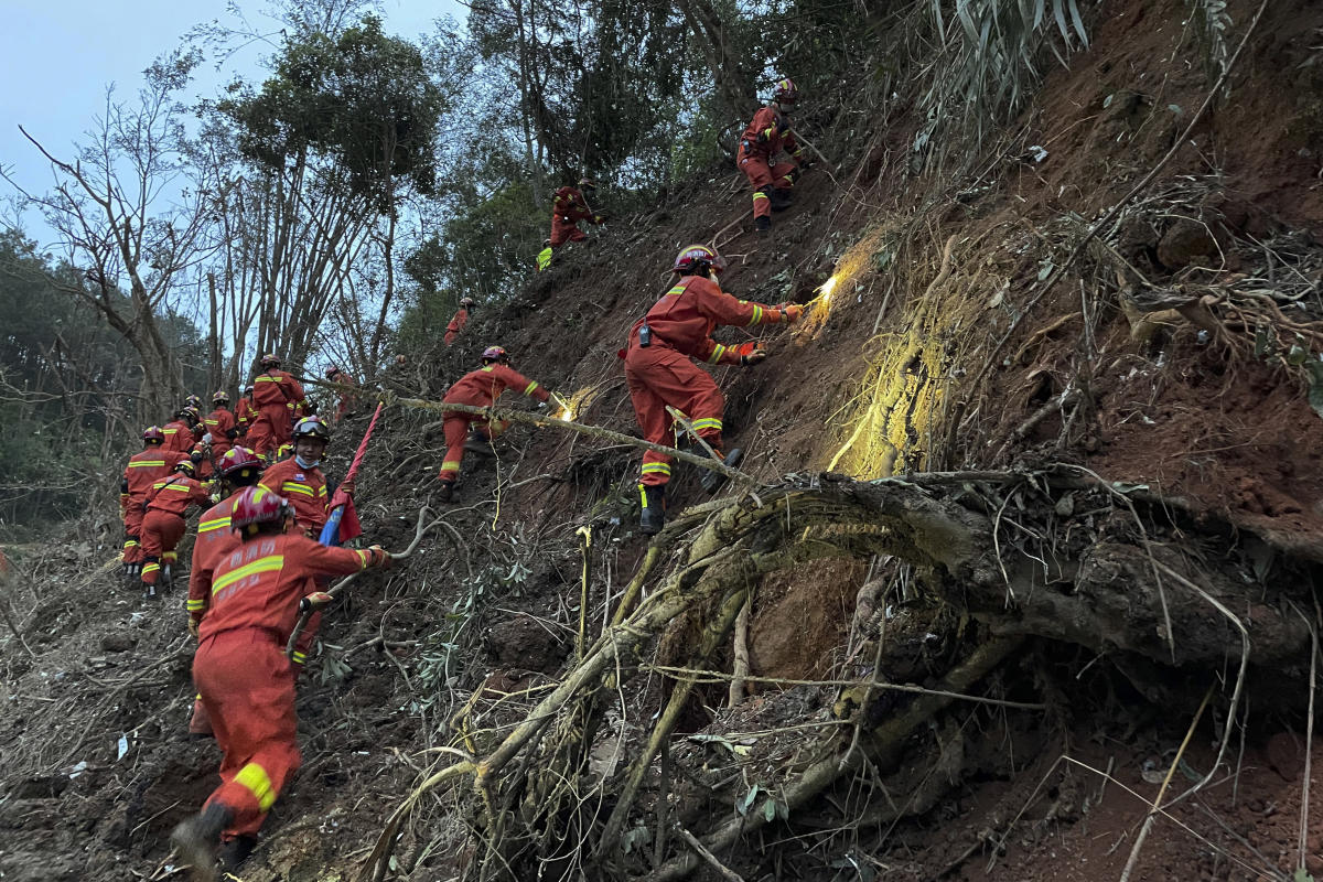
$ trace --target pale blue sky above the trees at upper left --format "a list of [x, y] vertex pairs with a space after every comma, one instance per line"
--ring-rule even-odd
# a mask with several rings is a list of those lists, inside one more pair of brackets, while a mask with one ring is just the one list
[[[262, 0], [239, 0], [247, 20], [279, 25], [261, 16]], [[450, 15], [463, 21], [467, 11], [455, 0], [382, 0], [386, 30], [404, 37], [430, 32], [431, 22]], [[106, 103], [106, 86], [115, 83], [132, 95], [152, 60], [179, 45], [194, 25], [228, 20], [224, 0], [7, 0], [0, 28], [0, 165], [37, 192], [50, 184], [46, 163], [19, 131], [21, 124], [57, 156], [70, 156], [91, 119]], [[258, 46], [214, 73], [198, 71], [193, 94], [234, 74], [259, 78], [258, 60], [270, 53]], [[0, 182], [0, 194], [11, 189]], [[38, 239], [40, 230], [29, 230]]]

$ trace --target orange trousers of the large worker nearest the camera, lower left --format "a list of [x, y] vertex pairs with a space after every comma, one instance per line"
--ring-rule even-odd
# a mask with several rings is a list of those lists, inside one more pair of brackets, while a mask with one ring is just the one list
[[222, 631], [197, 648], [193, 682], [225, 751], [221, 785], [206, 803], [234, 819], [221, 838], [254, 836], [303, 760], [294, 681], [294, 665], [265, 628]]

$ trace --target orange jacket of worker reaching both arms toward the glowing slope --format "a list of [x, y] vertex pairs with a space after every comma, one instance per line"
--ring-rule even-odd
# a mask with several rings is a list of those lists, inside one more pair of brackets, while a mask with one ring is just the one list
[[[630, 346], [639, 345], [639, 328], [646, 321], [654, 346], [669, 346], [712, 365], [737, 365], [744, 348], [726, 346], [713, 340], [712, 332], [717, 325], [747, 328], [785, 320], [786, 315], [775, 307], [737, 300], [712, 279], [687, 275], [634, 324], [630, 329]], [[620, 354], [623, 357], [623, 352]]]

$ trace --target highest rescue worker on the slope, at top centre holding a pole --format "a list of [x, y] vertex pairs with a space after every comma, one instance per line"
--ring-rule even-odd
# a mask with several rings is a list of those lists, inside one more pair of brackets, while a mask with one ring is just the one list
[[[790, 206], [790, 192], [795, 179], [807, 169], [804, 148], [795, 143], [790, 131], [790, 108], [799, 100], [799, 90], [790, 79], [782, 79], [771, 93], [771, 100], [759, 107], [749, 127], [740, 138], [736, 164], [753, 185], [753, 223], [759, 233], [771, 229], [771, 213]], [[779, 152], [790, 153], [789, 163], [773, 163]]]

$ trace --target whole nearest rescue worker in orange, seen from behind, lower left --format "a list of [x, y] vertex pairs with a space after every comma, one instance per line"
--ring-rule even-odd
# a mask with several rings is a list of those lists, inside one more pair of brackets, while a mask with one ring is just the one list
[[265, 487], [241, 491], [230, 514], [241, 543], [213, 573], [193, 682], [225, 751], [221, 785], [171, 834], [194, 878], [216, 878], [217, 845], [225, 867], [237, 869], [302, 762], [294, 709], [298, 673], [284, 656], [300, 600], [316, 590], [318, 577], [390, 561], [376, 545], [331, 547], [287, 532], [292, 516], [288, 502]]

